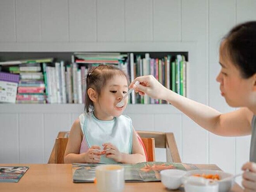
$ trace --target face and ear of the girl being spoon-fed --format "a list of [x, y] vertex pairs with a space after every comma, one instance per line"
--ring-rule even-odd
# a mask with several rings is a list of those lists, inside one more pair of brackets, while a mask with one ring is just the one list
[[102, 89], [97, 103], [94, 104], [95, 116], [100, 120], [111, 120], [113, 117], [120, 116], [125, 110], [128, 97], [125, 98], [125, 105], [117, 107], [116, 104], [121, 101], [128, 92], [128, 82], [126, 77], [120, 74], [111, 78]]

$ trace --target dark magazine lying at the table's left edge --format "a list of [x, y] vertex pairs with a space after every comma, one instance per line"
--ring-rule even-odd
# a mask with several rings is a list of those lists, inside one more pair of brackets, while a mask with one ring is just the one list
[[0, 183], [17, 183], [29, 166], [0, 166]]

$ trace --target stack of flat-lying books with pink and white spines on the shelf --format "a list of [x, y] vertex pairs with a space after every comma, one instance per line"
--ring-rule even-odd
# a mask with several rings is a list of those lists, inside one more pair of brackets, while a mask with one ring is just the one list
[[20, 64], [16, 103], [45, 103], [45, 83], [40, 63]]

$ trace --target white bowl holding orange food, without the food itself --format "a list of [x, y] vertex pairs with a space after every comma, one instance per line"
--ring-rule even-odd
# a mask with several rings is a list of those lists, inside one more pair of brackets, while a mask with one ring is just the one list
[[[184, 183], [185, 180], [189, 178], [189, 176], [195, 175], [195, 174], [218, 174], [220, 176], [220, 180], [216, 180], [216, 183], [219, 185], [219, 192], [227, 192], [231, 189], [231, 187], [234, 185], [234, 175], [230, 173], [226, 173], [223, 171], [218, 171], [218, 170], [192, 170], [192, 171], [187, 171], [187, 173], [183, 176], [182, 182]], [[223, 180], [225, 179], [225, 180]], [[222, 181], [223, 180], [223, 181]]]

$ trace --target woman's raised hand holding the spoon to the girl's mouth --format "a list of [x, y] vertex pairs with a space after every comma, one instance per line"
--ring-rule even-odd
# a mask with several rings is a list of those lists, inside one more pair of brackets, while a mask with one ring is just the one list
[[[136, 81], [139, 81], [139, 85], [134, 85]], [[140, 76], [135, 78], [133, 82], [131, 82], [129, 88], [134, 88], [136, 93], [140, 95], [149, 95], [149, 97], [153, 99], [163, 99], [166, 100], [165, 95], [168, 90], [164, 87], [159, 81], [154, 78], [152, 75]]]

